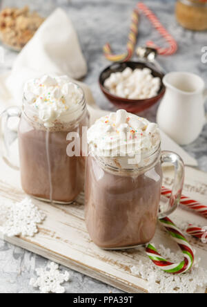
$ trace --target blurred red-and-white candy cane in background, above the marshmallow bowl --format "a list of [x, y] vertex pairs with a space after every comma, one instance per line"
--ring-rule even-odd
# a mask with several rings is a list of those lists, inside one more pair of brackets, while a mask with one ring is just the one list
[[161, 36], [163, 36], [170, 45], [168, 48], [161, 48], [157, 46], [153, 41], [148, 41], [147, 46], [157, 49], [159, 55], [173, 55], [174, 53], [176, 53], [178, 48], [177, 42], [172, 37], [172, 35], [170, 35], [169, 32], [164, 28], [164, 26], [162, 26], [155, 14], [142, 2], [138, 3], [137, 7], [139, 8], [139, 10], [144, 12], [144, 15], [148, 17], [148, 19], [152, 23], [152, 26], [157, 29]]

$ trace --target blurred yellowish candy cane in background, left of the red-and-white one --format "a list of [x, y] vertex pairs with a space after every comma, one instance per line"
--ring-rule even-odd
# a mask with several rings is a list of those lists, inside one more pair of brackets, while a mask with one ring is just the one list
[[110, 44], [103, 46], [103, 53], [107, 59], [111, 62], [127, 62], [131, 59], [135, 52], [135, 45], [137, 43], [138, 34], [138, 24], [139, 24], [139, 11], [137, 8], [132, 12], [132, 23], [130, 26], [130, 33], [128, 35], [127, 52], [121, 55], [115, 55], [112, 53], [112, 48]]

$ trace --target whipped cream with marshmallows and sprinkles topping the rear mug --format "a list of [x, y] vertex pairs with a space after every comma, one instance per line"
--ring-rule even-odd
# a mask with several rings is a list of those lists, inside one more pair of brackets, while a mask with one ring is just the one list
[[24, 97], [39, 115], [45, 127], [53, 127], [55, 120], [66, 112], [75, 111], [83, 100], [83, 91], [67, 76], [43, 77], [29, 80], [24, 86]]

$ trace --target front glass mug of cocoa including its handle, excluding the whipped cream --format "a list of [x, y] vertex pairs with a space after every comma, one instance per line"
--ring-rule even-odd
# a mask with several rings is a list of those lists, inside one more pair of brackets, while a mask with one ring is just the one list
[[[126, 158], [126, 157], [125, 157]], [[86, 226], [92, 241], [103, 249], [134, 248], [155, 236], [157, 218], [179, 205], [184, 185], [184, 162], [160, 147], [143, 157], [137, 169], [119, 169], [93, 153], [86, 164]], [[163, 163], [175, 167], [170, 200], [160, 207]]]

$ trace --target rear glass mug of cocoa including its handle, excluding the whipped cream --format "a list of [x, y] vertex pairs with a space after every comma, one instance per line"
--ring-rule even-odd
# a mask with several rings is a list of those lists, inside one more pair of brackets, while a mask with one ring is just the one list
[[[1, 114], [1, 154], [10, 167], [20, 169], [26, 194], [43, 201], [68, 204], [83, 191], [86, 158], [81, 148], [80, 156], [68, 156], [67, 147], [72, 140], [67, 136], [69, 132], [78, 133], [81, 147], [82, 127], [88, 127], [89, 121], [84, 95], [74, 113], [67, 111], [51, 128], [44, 127], [26, 100], [22, 110], [10, 107]], [[15, 118], [19, 119], [16, 131], [10, 127]], [[14, 165], [16, 161], [10, 150], [17, 136], [20, 167]]]

